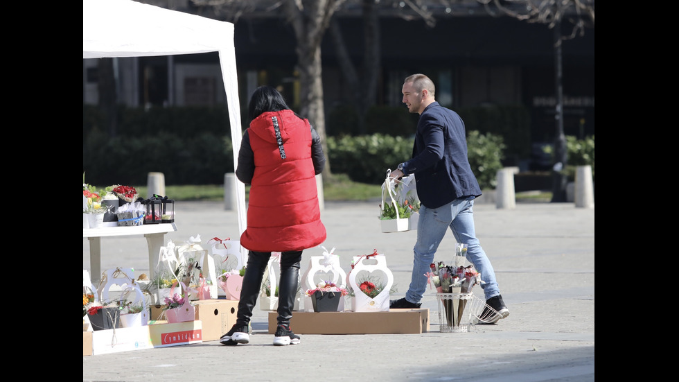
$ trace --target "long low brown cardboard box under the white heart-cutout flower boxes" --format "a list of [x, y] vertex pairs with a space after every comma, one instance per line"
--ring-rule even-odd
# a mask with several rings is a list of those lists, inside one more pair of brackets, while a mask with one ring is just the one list
[[[278, 313], [269, 313], [269, 333], [276, 333]], [[429, 309], [388, 312], [292, 312], [296, 334], [399, 334], [429, 331]]]

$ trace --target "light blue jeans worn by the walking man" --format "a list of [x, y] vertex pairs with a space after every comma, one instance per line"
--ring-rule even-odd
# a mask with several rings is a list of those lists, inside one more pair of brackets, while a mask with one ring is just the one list
[[[476, 238], [474, 229], [474, 198], [456, 199], [439, 208], [420, 207], [420, 218], [417, 221], [417, 242], [413, 248], [412, 279], [405, 299], [409, 302], [418, 303], [427, 289], [427, 276], [430, 272], [430, 264], [434, 262], [434, 254], [450, 227], [457, 243], [467, 244], [467, 261], [474, 265], [477, 272], [481, 273], [481, 284], [486, 299], [500, 295], [500, 288], [495, 281], [495, 271], [491, 261], [486, 257], [486, 252], [481, 248], [479, 239]], [[452, 260], [455, 253], [439, 256], [438, 261], [443, 261], [447, 266], [454, 265]], [[438, 263], [436, 261], [436, 263]]]

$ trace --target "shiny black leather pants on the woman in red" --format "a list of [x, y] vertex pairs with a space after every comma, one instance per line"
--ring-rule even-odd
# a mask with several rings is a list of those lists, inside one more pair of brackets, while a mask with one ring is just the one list
[[[240, 301], [238, 301], [238, 313], [236, 313], [236, 324], [238, 326], [247, 325], [250, 322], [250, 318], [252, 318], [252, 310], [257, 304], [264, 271], [270, 257], [271, 252], [248, 252], [245, 276], [243, 276], [243, 287], [240, 290]], [[294, 299], [297, 295], [297, 281], [299, 279], [299, 263], [301, 259], [302, 251], [281, 253], [278, 324], [283, 324], [286, 327], [290, 327], [290, 318], [292, 318], [292, 308], [294, 307]], [[276, 290], [276, 286], [272, 285], [271, 290]]]

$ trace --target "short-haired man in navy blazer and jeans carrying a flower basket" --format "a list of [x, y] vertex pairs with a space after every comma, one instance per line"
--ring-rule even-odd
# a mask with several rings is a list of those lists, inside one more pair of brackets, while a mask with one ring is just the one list
[[389, 176], [398, 180], [414, 174], [421, 207], [410, 286], [405, 297], [392, 300], [389, 308], [421, 306], [427, 287], [425, 275], [450, 227], [457, 243], [467, 244], [466, 257], [481, 274], [486, 307], [479, 322], [495, 323], [506, 318], [509, 309], [502, 301], [491, 261], [476, 238], [473, 206], [474, 199], [481, 196], [481, 188], [467, 158], [464, 122], [456, 112], [436, 102], [435, 90], [432, 80], [424, 74], [413, 74], [403, 83], [403, 103], [409, 112], [420, 114], [420, 119], [412, 159], [398, 164]]

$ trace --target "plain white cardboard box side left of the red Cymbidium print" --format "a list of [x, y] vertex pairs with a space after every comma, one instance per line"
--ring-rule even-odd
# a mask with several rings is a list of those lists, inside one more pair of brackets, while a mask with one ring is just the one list
[[88, 332], [92, 336], [92, 354], [151, 349], [148, 326], [105, 329]]

